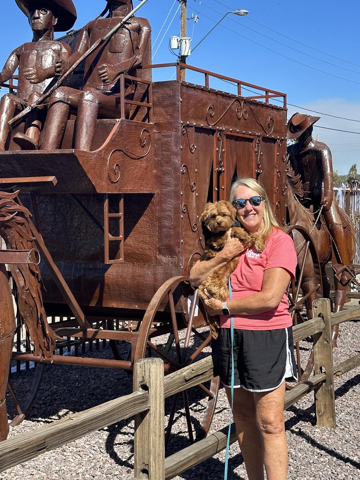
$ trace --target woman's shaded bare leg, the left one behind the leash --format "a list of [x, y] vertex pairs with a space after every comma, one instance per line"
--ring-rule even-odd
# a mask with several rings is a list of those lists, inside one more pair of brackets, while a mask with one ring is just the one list
[[[225, 387], [231, 405], [230, 388]], [[236, 434], [249, 480], [264, 480], [263, 438], [256, 423], [255, 397], [243, 388], [234, 388], [233, 417]]]

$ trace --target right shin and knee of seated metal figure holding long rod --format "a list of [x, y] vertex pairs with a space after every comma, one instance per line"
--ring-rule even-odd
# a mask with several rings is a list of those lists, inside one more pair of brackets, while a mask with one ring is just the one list
[[76, 122], [75, 149], [90, 152], [93, 146], [99, 100], [96, 89], [85, 90], [79, 98]]

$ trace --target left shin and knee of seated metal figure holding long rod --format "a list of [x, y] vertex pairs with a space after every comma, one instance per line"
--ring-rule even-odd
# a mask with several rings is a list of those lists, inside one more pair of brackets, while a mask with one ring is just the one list
[[[66, 87], [65, 87], [66, 88]], [[69, 118], [71, 101], [61, 87], [51, 95], [46, 117], [41, 150], [60, 148], [65, 127]]]

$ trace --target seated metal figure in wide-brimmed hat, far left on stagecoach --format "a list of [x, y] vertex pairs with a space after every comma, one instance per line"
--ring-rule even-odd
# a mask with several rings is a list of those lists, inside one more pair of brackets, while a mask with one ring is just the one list
[[[72, 28], [76, 10], [72, 0], [16, 0], [29, 18], [33, 41], [16, 48], [0, 73], [0, 84], [12, 78], [19, 68], [16, 95], [9, 93], [0, 101], [0, 150], [5, 150], [9, 134], [8, 121], [41, 97], [63, 72], [63, 62], [71, 55], [68, 45], [54, 40], [54, 31]], [[14, 142], [23, 150], [37, 149], [41, 115], [35, 108], [25, 123], [25, 133], [18, 132]]]

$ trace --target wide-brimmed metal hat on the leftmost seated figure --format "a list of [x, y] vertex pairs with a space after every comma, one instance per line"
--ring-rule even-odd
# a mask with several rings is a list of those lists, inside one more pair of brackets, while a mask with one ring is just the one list
[[42, 5], [44, 8], [48, 8], [58, 19], [58, 23], [55, 25], [55, 32], [66, 32], [72, 29], [77, 13], [75, 5], [72, 0], [15, 0], [17, 6], [25, 15], [29, 16], [29, 9], [32, 6]]

